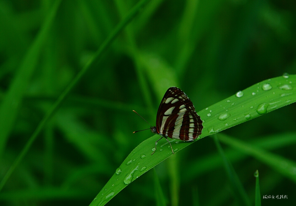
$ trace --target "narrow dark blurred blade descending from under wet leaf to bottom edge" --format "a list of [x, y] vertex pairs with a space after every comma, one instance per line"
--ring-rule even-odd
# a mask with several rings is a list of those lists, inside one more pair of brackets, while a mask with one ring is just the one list
[[219, 143], [217, 136], [214, 136], [214, 140], [216, 143], [216, 147], [222, 157], [224, 168], [230, 180], [230, 184], [232, 186], [232, 191], [234, 194], [234, 198], [238, 201], [239, 205], [248, 205], [250, 206], [250, 200], [247, 196], [247, 193], [241, 183], [240, 179], [238, 178], [234, 168], [232, 167], [231, 163], [228, 161], [227, 157], [224, 154], [224, 151]]

